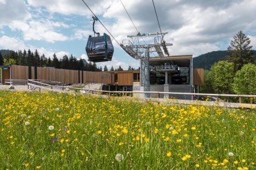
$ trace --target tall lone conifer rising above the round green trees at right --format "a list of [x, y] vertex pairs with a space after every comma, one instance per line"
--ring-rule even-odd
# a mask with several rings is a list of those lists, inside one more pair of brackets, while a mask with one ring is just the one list
[[250, 38], [245, 36], [243, 31], [239, 31], [234, 36], [234, 40], [231, 40], [228, 46], [228, 52], [230, 53], [229, 59], [234, 63], [236, 71], [240, 70], [245, 64], [254, 63], [250, 43]]

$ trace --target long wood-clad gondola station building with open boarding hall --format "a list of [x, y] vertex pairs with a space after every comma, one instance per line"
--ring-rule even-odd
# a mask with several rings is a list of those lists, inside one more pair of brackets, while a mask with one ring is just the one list
[[[179, 73], [166, 70], [166, 65], [170, 63], [179, 66]], [[204, 70], [192, 69], [190, 55], [150, 59], [150, 66], [156, 68], [150, 70], [150, 91], [195, 92], [194, 88], [204, 83]], [[18, 65], [0, 66], [0, 68], [2, 84], [7, 82], [6, 80], [38, 79], [60, 84], [102, 83], [116, 91], [143, 91], [141, 70], [87, 72]]]

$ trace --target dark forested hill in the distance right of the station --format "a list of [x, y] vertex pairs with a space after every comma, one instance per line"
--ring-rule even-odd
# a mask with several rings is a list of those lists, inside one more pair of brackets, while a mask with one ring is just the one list
[[[227, 59], [226, 56], [228, 55], [227, 50], [207, 52], [206, 54], [193, 58], [193, 68], [209, 70], [214, 63]], [[253, 50], [253, 56], [256, 58], [256, 50]]]

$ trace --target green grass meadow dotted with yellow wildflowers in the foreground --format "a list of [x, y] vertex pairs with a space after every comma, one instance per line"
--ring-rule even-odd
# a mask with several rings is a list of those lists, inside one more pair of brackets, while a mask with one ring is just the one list
[[256, 111], [0, 91], [1, 169], [256, 169]]

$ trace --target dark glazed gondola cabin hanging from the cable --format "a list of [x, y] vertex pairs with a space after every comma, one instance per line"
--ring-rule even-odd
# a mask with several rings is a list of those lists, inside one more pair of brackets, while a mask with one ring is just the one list
[[111, 38], [106, 33], [103, 36], [89, 36], [85, 50], [89, 61], [94, 63], [111, 61], [114, 53]]

